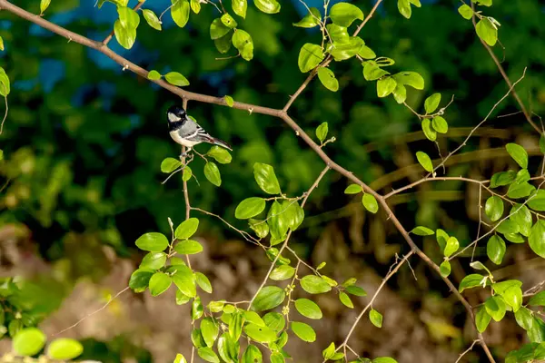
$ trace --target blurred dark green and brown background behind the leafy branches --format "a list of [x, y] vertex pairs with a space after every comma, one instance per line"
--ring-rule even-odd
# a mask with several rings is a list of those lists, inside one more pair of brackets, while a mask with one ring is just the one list
[[[131, 1], [129, 5], [134, 4]], [[160, 14], [169, 4], [148, 0], [144, 8]], [[306, 4], [322, 7], [316, 1]], [[353, 4], [367, 15], [374, 2]], [[17, 5], [39, 13], [36, 1], [21, 0]], [[422, 7], [413, 9], [407, 20], [398, 13], [395, 1], [385, 0], [361, 33], [377, 55], [396, 61], [394, 71], [413, 70], [424, 76], [425, 91], [409, 93], [408, 103], [413, 108], [422, 110], [423, 100], [431, 93], [442, 93], [441, 106], [454, 94], [445, 115], [451, 129], [439, 139], [443, 156], [508, 89], [471, 22], [458, 14], [458, 5], [422, 0]], [[484, 10], [501, 24], [501, 44], [494, 48], [495, 53], [511, 80], [528, 67], [517, 90], [533, 113], [543, 113], [545, 7], [539, 0], [518, 0]], [[299, 49], [321, 38], [316, 32], [292, 26], [302, 15], [304, 7], [297, 0], [282, 4], [279, 15], [265, 15], [249, 5], [246, 20], [237, 21], [253, 35], [251, 62], [216, 59], [223, 55], [216, 52], [209, 36], [209, 25], [216, 16], [212, 6], [203, 6], [199, 15], [192, 14], [183, 29], [173, 25], [168, 14], [163, 17], [161, 33], [143, 20], [133, 49], [124, 50], [115, 40], [110, 46], [146, 69], [184, 74], [192, 92], [229, 94], [235, 101], [282, 108], [306, 77], [297, 67]], [[105, 4], [98, 9], [92, 1], [53, 0], [45, 18], [102, 40], [113, 28], [115, 7]], [[181, 100], [122, 71], [103, 54], [67, 43], [5, 11], [0, 11], [0, 35], [5, 41], [0, 65], [13, 85], [0, 135], [5, 158], [0, 162], [0, 272], [3, 277], [28, 279], [18, 291], [8, 280], [0, 288], [16, 296], [12, 303], [23, 313], [18, 324], [44, 322], [45, 330], [55, 332], [100, 307], [104, 299], [126, 286], [131, 269], [142, 258], [134, 248], [136, 238], [147, 231], [168, 234], [167, 217], [174, 224], [183, 220], [182, 181], [173, 178], [162, 185], [165, 174], [160, 171], [164, 158], [177, 157], [180, 152], [167, 133], [165, 111]], [[292, 105], [292, 117], [312, 136], [320, 123], [328, 122], [330, 135], [337, 140], [325, 151], [381, 192], [420, 178], [414, 152], [422, 150], [433, 158], [439, 154], [437, 146], [423, 136], [419, 120], [392, 98], [378, 99], [374, 83], [364, 81], [362, 66], [355, 60], [333, 62], [331, 68], [341, 90], [332, 93], [321, 83], [312, 82]], [[530, 156], [537, 156], [538, 135], [520, 113], [495, 117], [517, 111], [510, 98], [501, 103], [490, 123], [476, 132], [460, 156], [451, 158], [447, 174], [489, 179], [511, 162], [503, 151], [507, 142], [519, 142]], [[233, 145], [233, 162], [220, 167], [220, 188], [206, 181], [202, 161], [193, 162], [199, 183], [189, 183], [192, 204], [239, 228], [246, 226], [234, 219], [234, 208], [244, 198], [260, 193], [253, 181], [254, 162], [272, 164], [282, 191], [292, 196], [306, 191], [322, 171], [322, 161], [279, 119], [194, 102], [189, 103], [188, 112], [207, 131]], [[538, 172], [540, 158], [532, 157], [530, 162]], [[394, 254], [408, 248], [387, 216], [366, 214], [360, 201], [342, 193], [346, 185], [334, 172], [326, 175], [312, 193], [305, 208], [307, 218], [293, 243], [310, 262], [326, 260], [325, 270], [333, 276], [359, 276], [372, 291]], [[391, 198], [408, 230], [416, 224], [441, 227], [466, 244], [476, 233], [477, 203], [478, 189], [459, 182], [422, 184]], [[209, 241], [206, 260], [197, 263], [211, 271], [214, 288], [220, 286], [214, 297], [247, 298], [264, 276], [266, 258], [220, 221], [196, 216], [202, 223], [201, 237]], [[432, 239], [421, 243], [436, 262], [441, 260]], [[482, 254], [482, 247], [477, 253]], [[453, 266], [455, 285], [470, 270], [468, 261], [462, 258]], [[385, 326], [378, 333], [381, 338], [371, 326], [362, 324], [359, 344], [353, 346], [366, 355], [390, 355], [400, 362], [455, 360], [471, 344], [471, 324], [441, 279], [416, 259], [411, 263], [418, 280], [413, 279], [411, 270], [401, 270], [389, 283], [391, 290], [379, 299], [385, 316]], [[531, 284], [543, 280], [543, 267], [527, 246], [511, 245], [503, 264], [495, 268]], [[230, 271], [231, 280], [222, 278], [225, 271]], [[104, 314], [119, 319], [116, 329], [108, 328], [106, 318], [93, 318], [66, 334], [87, 339], [88, 358], [112, 362], [172, 359], [176, 351], [191, 344], [185, 334], [190, 321], [186, 308], [176, 307], [173, 299], [148, 298], [127, 292], [111, 304]], [[479, 296], [472, 299], [477, 303]], [[359, 301], [356, 310], [365, 301]], [[337, 306], [338, 301], [322, 303], [329, 307], [331, 319], [316, 327], [322, 343], [341, 340], [353, 313]], [[5, 305], [5, 300], [0, 299], [0, 304]], [[183, 316], [186, 327], [157, 318], [156, 314], [167, 311]], [[489, 346], [498, 357], [523, 342], [523, 331], [512, 323], [502, 322], [487, 331]], [[173, 329], [182, 331], [174, 334]], [[157, 340], [162, 342], [159, 347]], [[7, 346], [0, 346], [0, 351], [1, 347]], [[312, 357], [320, 356], [320, 349], [305, 346], [298, 350], [301, 356], [295, 361], [315, 361]], [[479, 361], [481, 353], [475, 350], [467, 356], [468, 361]]]

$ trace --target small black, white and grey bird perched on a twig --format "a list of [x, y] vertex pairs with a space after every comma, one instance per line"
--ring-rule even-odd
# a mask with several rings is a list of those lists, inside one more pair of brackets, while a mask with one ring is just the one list
[[172, 106], [168, 109], [166, 115], [168, 118], [168, 131], [170, 132], [173, 141], [185, 146], [187, 148], [185, 151], [186, 153], [189, 152], [194, 145], [201, 142], [213, 143], [214, 145], [219, 145], [233, 151], [227, 142], [212, 137], [198, 123], [195, 123], [192, 119], [187, 117], [187, 113], [185, 113], [183, 107]]

